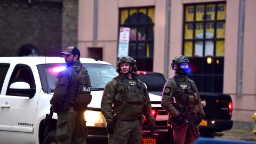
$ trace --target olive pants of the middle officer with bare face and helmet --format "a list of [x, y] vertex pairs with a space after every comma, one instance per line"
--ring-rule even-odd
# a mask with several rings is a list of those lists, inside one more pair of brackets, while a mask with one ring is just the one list
[[114, 134], [108, 134], [109, 144], [141, 144], [142, 124], [140, 119], [116, 121]]

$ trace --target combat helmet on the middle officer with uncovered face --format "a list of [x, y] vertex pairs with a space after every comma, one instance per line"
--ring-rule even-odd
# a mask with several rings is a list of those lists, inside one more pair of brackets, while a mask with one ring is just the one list
[[133, 69], [131, 71], [132, 73], [138, 70], [137, 69], [136, 61], [132, 57], [124, 56], [122, 58], [119, 58], [119, 60], [117, 61], [117, 64], [116, 64], [117, 69], [116, 69], [116, 71], [117, 71], [118, 74], [121, 74], [121, 67], [120, 67], [121, 63], [130, 63], [130, 65], [133, 66]]

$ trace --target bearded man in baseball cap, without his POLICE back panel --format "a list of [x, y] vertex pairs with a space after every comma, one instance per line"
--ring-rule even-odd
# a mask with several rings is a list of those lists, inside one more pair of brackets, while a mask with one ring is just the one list
[[83, 68], [79, 60], [77, 47], [69, 46], [64, 52], [67, 68], [61, 71], [55, 82], [55, 90], [51, 99], [53, 111], [58, 113], [56, 135], [60, 143], [86, 144], [87, 130], [84, 111], [74, 110], [77, 96], [77, 76]]

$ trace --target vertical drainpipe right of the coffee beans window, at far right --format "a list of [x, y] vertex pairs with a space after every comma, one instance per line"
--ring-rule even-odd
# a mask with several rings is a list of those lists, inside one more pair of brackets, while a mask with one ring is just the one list
[[239, 1], [239, 19], [238, 19], [237, 70], [236, 70], [236, 93], [238, 97], [242, 96], [242, 90], [243, 90], [244, 17], [245, 17], [245, 0], [240, 0]]

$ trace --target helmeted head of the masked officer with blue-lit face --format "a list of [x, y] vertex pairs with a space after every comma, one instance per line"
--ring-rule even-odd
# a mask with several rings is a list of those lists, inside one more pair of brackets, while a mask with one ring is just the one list
[[[172, 60], [171, 68], [175, 71], [180, 71], [181, 73], [189, 74], [191, 70], [189, 68], [188, 63], [189, 60], [187, 57], [179, 55]], [[177, 67], [174, 67], [175, 64], [177, 64]]]

